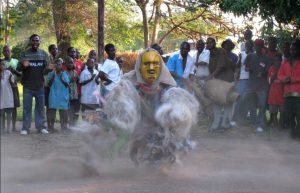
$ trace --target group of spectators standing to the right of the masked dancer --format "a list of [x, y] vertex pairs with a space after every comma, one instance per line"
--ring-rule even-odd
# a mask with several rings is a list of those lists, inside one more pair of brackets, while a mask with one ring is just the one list
[[299, 137], [300, 40], [287, 42], [278, 49], [276, 37], [269, 37], [266, 46], [263, 39], [252, 40], [251, 30], [246, 30], [244, 39], [238, 55], [232, 52], [235, 45], [230, 39], [222, 42], [222, 48], [216, 47], [214, 38], [207, 38], [206, 46], [204, 40], [199, 40], [193, 58], [188, 54], [190, 45], [183, 42], [180, 52], [168, 60], [167, 67], [179, 86], [184, 87], [182, 83], [189, 79], [199, 81], [199, 85], [211, 79], [235, 85], [240, 94], [238, 100], [212, 104], [211, 131], [250, 122], [257, 132], [270, 126], [290, 129], [293, 137]]

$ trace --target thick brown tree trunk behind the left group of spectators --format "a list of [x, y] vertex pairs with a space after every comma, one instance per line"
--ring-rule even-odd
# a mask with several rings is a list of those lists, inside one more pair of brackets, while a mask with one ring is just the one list
[[67, 49], [71, 46], [71, 36], [68, 31], [69, 25], [66, 2], [61, 0], [52, 0], [52, 12], [57, 46], [61, 51], [60, 57], [66, 58]]

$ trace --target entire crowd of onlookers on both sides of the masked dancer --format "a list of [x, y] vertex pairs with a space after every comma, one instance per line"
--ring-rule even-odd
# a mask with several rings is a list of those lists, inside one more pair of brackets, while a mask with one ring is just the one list
[[[290, 129], [293, 137], [300, 137], [300, 40], [286, 43], [281, 49], [276, 37], [266, 42], [252, 40], [251, 30], [246, 30], [239, 54], [233, 53], [235, 44], [230, 39], [219, 48], [216, 39], [209, 37], [197, 41], [194, 56], [190, 54], [190, 44], [182, 42], [179, 52], [168, 59], [163, 57], [178, 87], [186, 88], [189, 81], [204, 87], [212, 79], [234, 84], [240, 97], [233, 103], [213, 102], [210, 131], [250, 122], [257, 132], [270, 126]], [[18, 78], [23, 85], [22, 135], [29, 133], [33, 97], [35, 127], [40, 133], [55, 131], [56, 110], [61, 129], [68, 130], [78, 121], [80, 111], [102, 108], [108, 93], [122, 79], [122, 58], [116, 57], [113, 44], [105, 46], [107, 59], [103, 64], [97, 63], [95, 50], [89, 52], [85, 62], [78, 59], [79, 51], [74, 47], [68, 48], [66, 58], [61, 58], [57, 46], [50, 45], [48, 55], [39, 48], [40, 37], [36, 34], [30, 37], [30, 45], [19, 60], [11, 58], [8, 45], [3, 48], [0, 112], [1, 128], [8, 132], [16, 130]], [[160, 45], [151, 47], [163, 55]], [[156, 73], [155, 66], [149, 68], [150, 74]]]

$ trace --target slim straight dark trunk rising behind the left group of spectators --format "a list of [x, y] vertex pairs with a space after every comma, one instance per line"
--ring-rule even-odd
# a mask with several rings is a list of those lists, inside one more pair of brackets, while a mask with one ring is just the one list
[[98, 60], [104, 61], [104, 1], [98, 0]]

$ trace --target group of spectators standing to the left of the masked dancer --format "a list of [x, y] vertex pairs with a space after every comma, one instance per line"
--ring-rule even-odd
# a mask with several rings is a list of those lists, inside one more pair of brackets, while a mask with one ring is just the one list
[[33, 98], [35, 127], [40, 133], [56, 131], [54, 122], [57, 110], [61, 130], [67, 131], [76, 124], [80, 110], [99, 108], [101, 98], [121, 79], [121, 62], [118, 64], [115, 60], [113, 44], [105, 46], [108, 58], [103, 64], [98, 64], [95, 50], [91, 50], [88, 59], [83, 62], [78, 59], [78, 50], [69, 47], [63, 60], [56, 45], [49, 46], [48, 55], [39, 48], [40, 37], [37, 34], [30, 36], [29, 40], [30, 48], [21, 53], [19, 60], [11, 58], [8, 45], [3, 48], [4, 58], [0, 65], [1, 132], [16, 131], [16, 108], [20, 107], [18, 78], [23, 85], [22, 135], [30, 131]]

